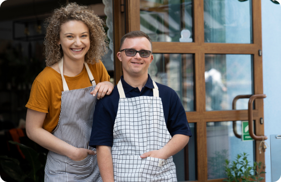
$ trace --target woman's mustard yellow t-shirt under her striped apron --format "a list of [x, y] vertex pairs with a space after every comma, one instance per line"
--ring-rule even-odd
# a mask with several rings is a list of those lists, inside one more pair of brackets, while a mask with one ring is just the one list
[[[110, 76], [102, 62], [88, 64], [96, 84], [109, 81]], [[91, 86], [85, 66], [74, 77], [64, 76], [69, 90]], [[58, 125], [61, 113], [61, 96], [63, 92], [62, 76], [51, 67], [45, 67], [35, 78], [26, 107], [46, 113], [43, 128], [49, 132]]]

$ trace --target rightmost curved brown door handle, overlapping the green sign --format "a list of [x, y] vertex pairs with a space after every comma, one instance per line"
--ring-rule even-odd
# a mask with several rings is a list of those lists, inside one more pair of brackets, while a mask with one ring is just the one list
[[266, 95], [264, 94], [258, 94], [258, 95], [253, 95], [249, 99], [248, 103], [248, 122], [249, 122], [249, 134], [254, 140], [262, 141], [266, 140], [267, 136], [257, 136], [254, 133], [254, 124], [253, 124], [253, 102], [255, 99], [264, 99], [266, 98]]

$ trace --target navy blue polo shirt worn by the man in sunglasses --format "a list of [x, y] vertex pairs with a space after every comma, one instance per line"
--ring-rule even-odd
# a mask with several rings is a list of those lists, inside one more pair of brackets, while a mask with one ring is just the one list
[[[153, 82], [148, 75], [148, 81], [142, 90], [130, 86], [121, 76], [121, 82], [126, 98], [151, 96], [153, 97]], [[176, 92], [160, 83], [156, 83], [159, 89], [159, 97], [162, 100], [163, 113], [167, 129], [171, 136], [175, 134], [184, 134], [192, 136], [188, 120], [186, 119], [184, 108]], [[114, 87], [111, 95], [98, 100], [93, 114], [92, 131], [89, 146], [96, 148], [97, 145], [113, 145], [113, 127], [117, 115], [119, 104], [119, 92], [117, 85]]]

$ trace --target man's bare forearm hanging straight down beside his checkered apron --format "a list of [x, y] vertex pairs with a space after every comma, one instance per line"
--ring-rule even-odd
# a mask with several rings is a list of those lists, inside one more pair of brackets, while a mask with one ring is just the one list
[[104, 182], [114, 182], [111, 147], [97, 146], [97, 159]]

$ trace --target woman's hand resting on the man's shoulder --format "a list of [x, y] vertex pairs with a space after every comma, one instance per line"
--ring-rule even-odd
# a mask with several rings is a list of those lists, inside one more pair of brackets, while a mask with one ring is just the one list
[[96, 88], [90, 92], [91, 95], [97, 96], [97, 99], [102, 99], [105, 95], [110, 95], [114, 85], [109, 81], [103, 81], [97, 84]]

